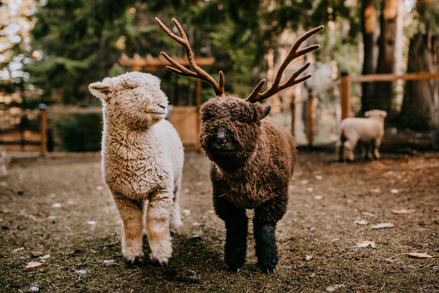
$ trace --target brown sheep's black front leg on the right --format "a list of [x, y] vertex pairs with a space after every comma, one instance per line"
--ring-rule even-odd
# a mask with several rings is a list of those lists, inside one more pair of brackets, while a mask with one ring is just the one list
[[254, 210], [253, 232], [257, 265], [262, 272], [274, 272], [279, 256], [276, 245], [276, 224], [286, 212], [287, 200], [270, 201]]

